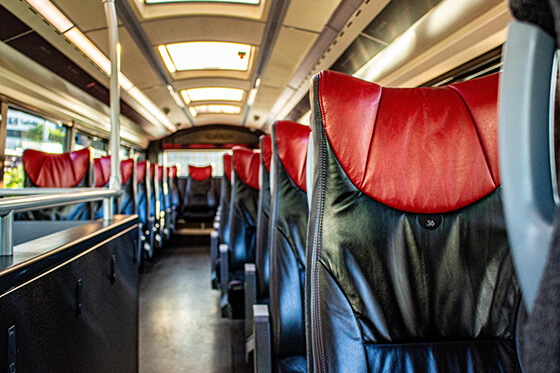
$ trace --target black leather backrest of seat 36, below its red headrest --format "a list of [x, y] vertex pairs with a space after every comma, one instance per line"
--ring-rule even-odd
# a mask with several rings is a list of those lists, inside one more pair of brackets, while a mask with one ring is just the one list
[[[431, 215], [401, 211], [366, 195], [341, 166], [343, 154], [333, 150], [334, 142], [349, 140], [326, 132], [325, 118], [332, 120], [334, 110], [318, 106], [319, 96], [328, 92], [324, 86], [318, 92], [322, 77], [313, 83], [315, 163], [306, 287], [308, 360], [314, 371], [520, 371], [515, 331], [521, 294], [500, 187], [462, 208]], [[338, 104], [348, 110], [346, 102]], [[406, 102], [401, 104], [406, 108]], [[423, 113], [423, 122], [411, 123], [429, 128], [429, 113]], [[484, 124], [492, 125], [477, 125]], [[380, 121], [375, 126], [383, 131]], [[415, 141], [408, 133], [394, 134], [395, 141]], [[472, 151], [461, 148], [464, 143], [453, 145], [458, 152]], [[420, 163], [426, 153], [408, 156]]]

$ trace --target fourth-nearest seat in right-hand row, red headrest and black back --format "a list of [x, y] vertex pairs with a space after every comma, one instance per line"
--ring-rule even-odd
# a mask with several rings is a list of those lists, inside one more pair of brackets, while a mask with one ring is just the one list
[[252, 150], [233, 148], [229, 212], [228, 300], [234, 318], [244, 316], [245, 263], [254, 263], [257, 227], [259, 157]]

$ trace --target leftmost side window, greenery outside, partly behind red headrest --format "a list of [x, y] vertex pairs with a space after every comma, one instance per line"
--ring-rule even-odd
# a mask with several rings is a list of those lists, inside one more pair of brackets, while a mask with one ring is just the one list
[[37, 115], [9, 108], [7, 117], [4, 187], [23, 187], [21, 156], [25, 149], [63, 153], [67, 127]]

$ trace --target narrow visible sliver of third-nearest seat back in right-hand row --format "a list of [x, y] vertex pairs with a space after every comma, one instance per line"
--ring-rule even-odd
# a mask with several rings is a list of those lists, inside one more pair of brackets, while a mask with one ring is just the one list
[[257, 267], [257, 299], [268, 298], [268, 258], [269, 258], [269, 217], [270, 217], [270, 163], [272, 161], [272, 139], [261, 136], [261, 167], [259, 173], [259, 205], [257, 215], [257, 247], [255, 265]]

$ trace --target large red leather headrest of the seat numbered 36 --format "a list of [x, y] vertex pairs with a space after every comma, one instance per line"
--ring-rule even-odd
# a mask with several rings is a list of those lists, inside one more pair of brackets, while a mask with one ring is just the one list
[[[365, 194], [402, 211], [441, 213], [464, 207], [500, 184], [497, 75], [448, 87], [391, 89], [337, 72], [320, 74], [327, 138]], [[482, 122], [486, 130], [479, 132]], [[421, 162], [409, 158], [418, 152], [424, 153]], [[422, 177], [428, 173], [433, 176]]]

